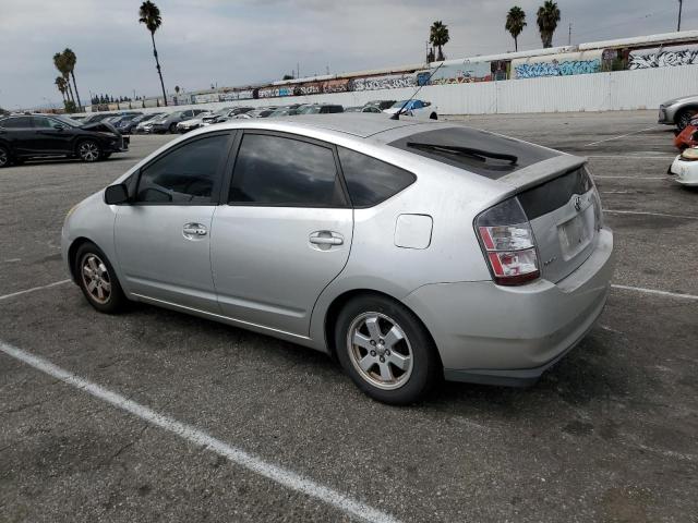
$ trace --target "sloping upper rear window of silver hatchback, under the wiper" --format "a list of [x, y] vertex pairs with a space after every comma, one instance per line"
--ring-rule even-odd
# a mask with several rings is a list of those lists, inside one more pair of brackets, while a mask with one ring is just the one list
[[[516, 157], [516, 161], [513, 162], [506, 159], [447, 151], [444, 149], [434, 150], [425, 147], [417, 147], [414, 144], [460, 147], [486, 154], [510, 155]], [[561, 154], [538, 145], [527, 144], [506, 136], [500, 136], [488, 133], [486, 131], [466, 126], [442, 127], [416, 133], [392, 142], [389, 145], [414, 155], [458, 167], [491, 180], [497, 180], [519, 169]]]

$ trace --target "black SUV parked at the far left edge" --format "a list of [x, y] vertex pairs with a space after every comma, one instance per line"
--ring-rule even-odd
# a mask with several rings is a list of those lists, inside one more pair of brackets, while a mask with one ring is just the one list
[[107, 122], [82, 123], [58, 114], [0, 118], [0, 168], [56, 156], [97, 161], [128, 148], [129, 138]]

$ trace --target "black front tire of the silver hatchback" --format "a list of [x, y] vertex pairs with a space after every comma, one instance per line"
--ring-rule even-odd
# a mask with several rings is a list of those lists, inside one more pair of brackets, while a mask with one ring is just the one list
[[[94, 265], [91, 260], [94, 262]], [[94, 270], [94, 266], [98, 268], [97, 275], [101, 283], [97, 279], [91, 278], [88, 271], [84, 270], [85, 266], [91, 270]], [[125, 308], [128, 300], [121, 289], [117, 273], [105, 253], [97, 245], [92, 242], [85, 242], [77, 248], [73, 260], [73, 273], [85, 299], [95, 309], [105, 314], [117, 314]], [[105, 282], [109, 285], [108, 295], [106, 295]], [[89, 285], [93, 283], [96, 284], [96, 288], [91, 289]], [[99, 292], [100, 287], [101, 293]], [[100, 295], [106, 299], [100, 300]]]

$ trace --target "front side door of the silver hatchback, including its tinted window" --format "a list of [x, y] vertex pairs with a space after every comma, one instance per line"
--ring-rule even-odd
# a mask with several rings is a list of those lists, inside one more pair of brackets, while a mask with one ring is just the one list
[[141, 169], [133, 202], [119, 206], [115, 243], [129, 290], [218, 313], [210, 273], [212, 218], [231, 134], [184, 142]]

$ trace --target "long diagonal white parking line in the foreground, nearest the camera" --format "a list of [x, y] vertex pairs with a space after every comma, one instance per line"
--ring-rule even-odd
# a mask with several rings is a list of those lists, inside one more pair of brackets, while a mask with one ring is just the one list
[[37, 370], [40, 370], [56, 379], [63, 381], [72, 387], [75, 387], [88, 394], [105, 401], [117, 409], [129, 412], [141, 419], [151, 423], [157, 427], [160, 427], [169, 433], [179, 436], [191, 443], [196, 446], [205, 446], [213, 452], [216, 452], [224, 458], [227, 458], [231, 462], [243, 466], [261, 476], [264, 476], [273, 482], [278, 483], [291, 490], [296, 490], [306, 496], [313, 497], [320, 501], [339, 509], [340, 511], [350, 514], [368, 522], [375, 523], [397, 523], [394, 516], [382, 512], [377, 509], [369, 507], [361, 501], [358, 501], [345, 494], [341, 494], [333, 488], [325, 487], [318, 483], [313, 482], [293, 471], [284, 469], [281, 466], [268, 463], [261, 458], [245, 452], [237, 447], [232, 447], [219, 439], [209, 436], [208, 434], [198, 430], [197, 428], [180, 423], [164, 414], [159, 414], [147, 406], [144, 406], [135, 401], [131, 401], [123, 396], [105, 389], [92, 381], [83, 379], [69, 370], [64, 370], [61, 367], [53, 365], [52, 363], [44, 360], [43, 357], [31, 354], [22, 349], [10, 345], [0, 341], [0, 352], [19, 360]]

